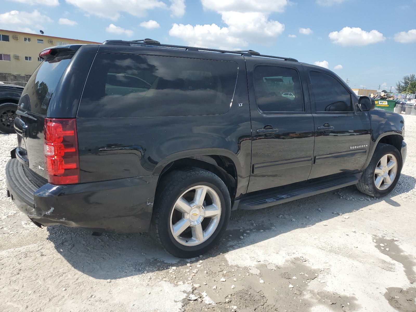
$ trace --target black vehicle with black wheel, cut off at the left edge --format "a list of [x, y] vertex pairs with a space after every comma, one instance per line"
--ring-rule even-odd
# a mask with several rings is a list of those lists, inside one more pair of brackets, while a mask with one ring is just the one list
[[13, 121], [23, 87], [0, 83], [0, 132], [14, 133]]

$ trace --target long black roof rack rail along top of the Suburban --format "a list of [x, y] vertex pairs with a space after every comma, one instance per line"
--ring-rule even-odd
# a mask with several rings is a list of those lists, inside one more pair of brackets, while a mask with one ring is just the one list
[[150, 45], [154, 47], [166, 47], [166, 48], [175, 48], [175, 49], [183, 49], [187, 51], [201, 51], [201, 52], [219, 52], [219, 53], [231, 53], [231, 54], [240, 54], [243, 56], [258, 56], [258, 57], [271, 57], [274, 59], [284, 59], [285, 61], [292, 61], [297, 62], [297, 59], [292, 59], [291, 57], [280, 57], [280, 56], [272, 56], [272, 55], [264, 55], [260, 54], [259, 52], [253, 50], [245, 50], [245, 51], [231, 51], [231, 50], [219, 50], [219, 49], [209, 49], [209, 48], [200, 48], [200, 47], [188, 47], [186, 45], [165, 45], [161, 44], [160, 42], [153, 40], [153, 39], [140, 39], [140, 40], [106, 40], [103, 42], [103, 45]]

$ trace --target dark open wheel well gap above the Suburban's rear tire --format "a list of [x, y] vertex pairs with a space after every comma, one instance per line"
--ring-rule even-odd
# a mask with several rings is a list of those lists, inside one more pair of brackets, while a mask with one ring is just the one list
[[168, 173], [181, 168], [201, 168], [214, 173], [225, 183], [225, 186], [227, 186], [231, 200], [235, 198], [238, 173], [235, 163], [229, 157], [220, 155], [198, 155], [171, 161], [164, 166], [159, 174], [158, 184]]

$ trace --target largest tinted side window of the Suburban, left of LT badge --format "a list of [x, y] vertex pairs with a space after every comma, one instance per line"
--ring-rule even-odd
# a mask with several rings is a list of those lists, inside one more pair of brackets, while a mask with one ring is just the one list
[[237, 81], [235, 62], [97, 54], [78, 117], [224, 114]]

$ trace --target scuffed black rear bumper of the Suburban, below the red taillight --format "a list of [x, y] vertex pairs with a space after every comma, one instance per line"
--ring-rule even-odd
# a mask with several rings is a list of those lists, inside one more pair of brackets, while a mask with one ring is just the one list
[[116, 233], [146, 232], [157, 176], [37, 186], [16, 158], [6, 165], [7, 193], [36, 224], [62, 224]]

